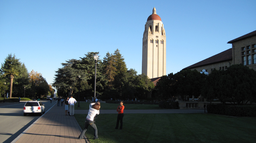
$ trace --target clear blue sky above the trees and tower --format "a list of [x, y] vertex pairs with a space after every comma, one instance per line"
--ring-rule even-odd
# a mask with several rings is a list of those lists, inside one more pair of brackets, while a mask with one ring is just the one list
[[256, 30], [256, 0], [0, 0], [0, 63], [15, 54], [53, 83], [66, 60], [116, 49], [141, 74], [144, 25], [155, 7], [166, 30], [166, 74], [231, 48]]

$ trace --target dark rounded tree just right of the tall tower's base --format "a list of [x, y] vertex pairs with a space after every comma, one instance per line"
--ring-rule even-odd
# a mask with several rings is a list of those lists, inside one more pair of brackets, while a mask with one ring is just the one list
[[161, 77], [157, 82], [157, 89], [162, 98], [176, 97], [187, 101], [192, 96], [195, 98], [200, 96], [205, 76], [196, 70], [181, 70], [176, 74]]

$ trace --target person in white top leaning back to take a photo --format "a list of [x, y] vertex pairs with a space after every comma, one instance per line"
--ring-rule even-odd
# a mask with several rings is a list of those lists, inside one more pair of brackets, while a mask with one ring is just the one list
[[84, 133], [87, 131], [88, 126], [90, 125], [93, 129], [94, 129], [94, 134], [93, 134], [93, 138], [94, 139], [98, 139], [98, 130], [95, 124], [95, 116], [96, 114], [99, 114], [99, 109], [100, 109], [100, 103], [90, 103], [90, 109], [88, 112], [88, 115], [86, 117], [85, 120], [85, 126], [84, 126], [84, 130], [81, 132], [81, 134], [79, 135], [79, 139], [81, 140], [84, 137]]

